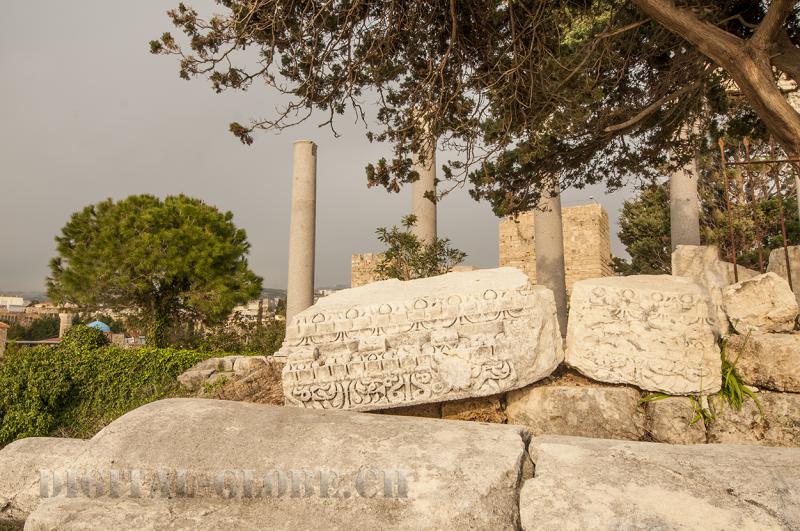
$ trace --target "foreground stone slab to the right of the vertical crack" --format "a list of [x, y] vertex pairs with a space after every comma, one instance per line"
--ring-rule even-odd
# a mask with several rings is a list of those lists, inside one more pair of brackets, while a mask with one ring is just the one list
[[800, 450], [534, 438], [522, 528], [797, 529]]

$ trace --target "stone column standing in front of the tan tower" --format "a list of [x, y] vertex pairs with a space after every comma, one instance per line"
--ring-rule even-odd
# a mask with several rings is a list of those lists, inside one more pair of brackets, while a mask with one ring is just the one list
[[[552, 195], [549, 195], [552, 194]], [[564, 229], [561, 222], [561, 189], [556, 181], [533, 214], [536, 251], [536, 283], [550, 288], [556, 299], [561, 335], [567, 335], [567, 282], [564, 266]]]

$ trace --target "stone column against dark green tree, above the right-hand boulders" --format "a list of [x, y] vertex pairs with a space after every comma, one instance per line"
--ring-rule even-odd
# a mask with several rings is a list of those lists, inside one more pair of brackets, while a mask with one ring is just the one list
[[669, 179], [669, 220], [672, 250], [678, 245], [700, 245], [700, 200], [697, 195], [697, 159]]

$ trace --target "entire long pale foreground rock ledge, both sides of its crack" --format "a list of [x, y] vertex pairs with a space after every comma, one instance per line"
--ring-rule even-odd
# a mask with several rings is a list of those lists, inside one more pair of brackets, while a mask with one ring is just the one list
[[[140, 470], [143, 488], [138, 497], [125, 488], [98, 496], [79, 482], [72, 497], [39, 498], [42, 468], [78, 477], [114, 469], [123, 479]], [[277, 469], [333, 470], [340, 481], [323, 496], [318, 480], [309, 490], [302, 473], [297, 483], [289, 473], [282, 495], [257, 494], [263, 472]], [[365, 476], [358, 491], [354, 476], [365, 469], [406, 470], [407, 495], [393, 482], [395, 495], [385, 496], [380, 473]], [[147, 476], [157, 470], [212, 483], [189, 482], [193, 497], [181, 496], [175, 474], [164, 483]], [[249, 493], [235, 481], [245, 470], [262, 472]], [[213, 483], [221, 471], [228, 471], [222, 494]], [[280, 481], [271, 487], [279, 490]], [[29, 531], [798, 529], [800, 449], [530, 439], [511, 425], [172, 399], [128, 413], [89, 441], [7, 446], [0, 501], [0, 528], [12, 515]]]

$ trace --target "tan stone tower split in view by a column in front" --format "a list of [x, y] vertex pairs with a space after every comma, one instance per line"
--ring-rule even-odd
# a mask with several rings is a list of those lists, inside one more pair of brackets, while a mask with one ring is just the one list
[[[608, 214], [597, 203], [564, 208], [564, 261], [567, 290], [587, 278], [614, 274]], [[500, 222], [500, 266], [521, 269], [536, 282], [533, 211]]]

